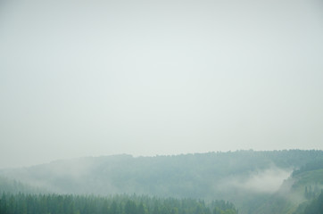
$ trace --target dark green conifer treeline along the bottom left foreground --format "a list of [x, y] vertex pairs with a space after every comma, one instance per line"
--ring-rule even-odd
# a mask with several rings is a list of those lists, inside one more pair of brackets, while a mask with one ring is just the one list
[[232, 203], [116, 195], [3, 193], [1, 214], [237, 214]]

